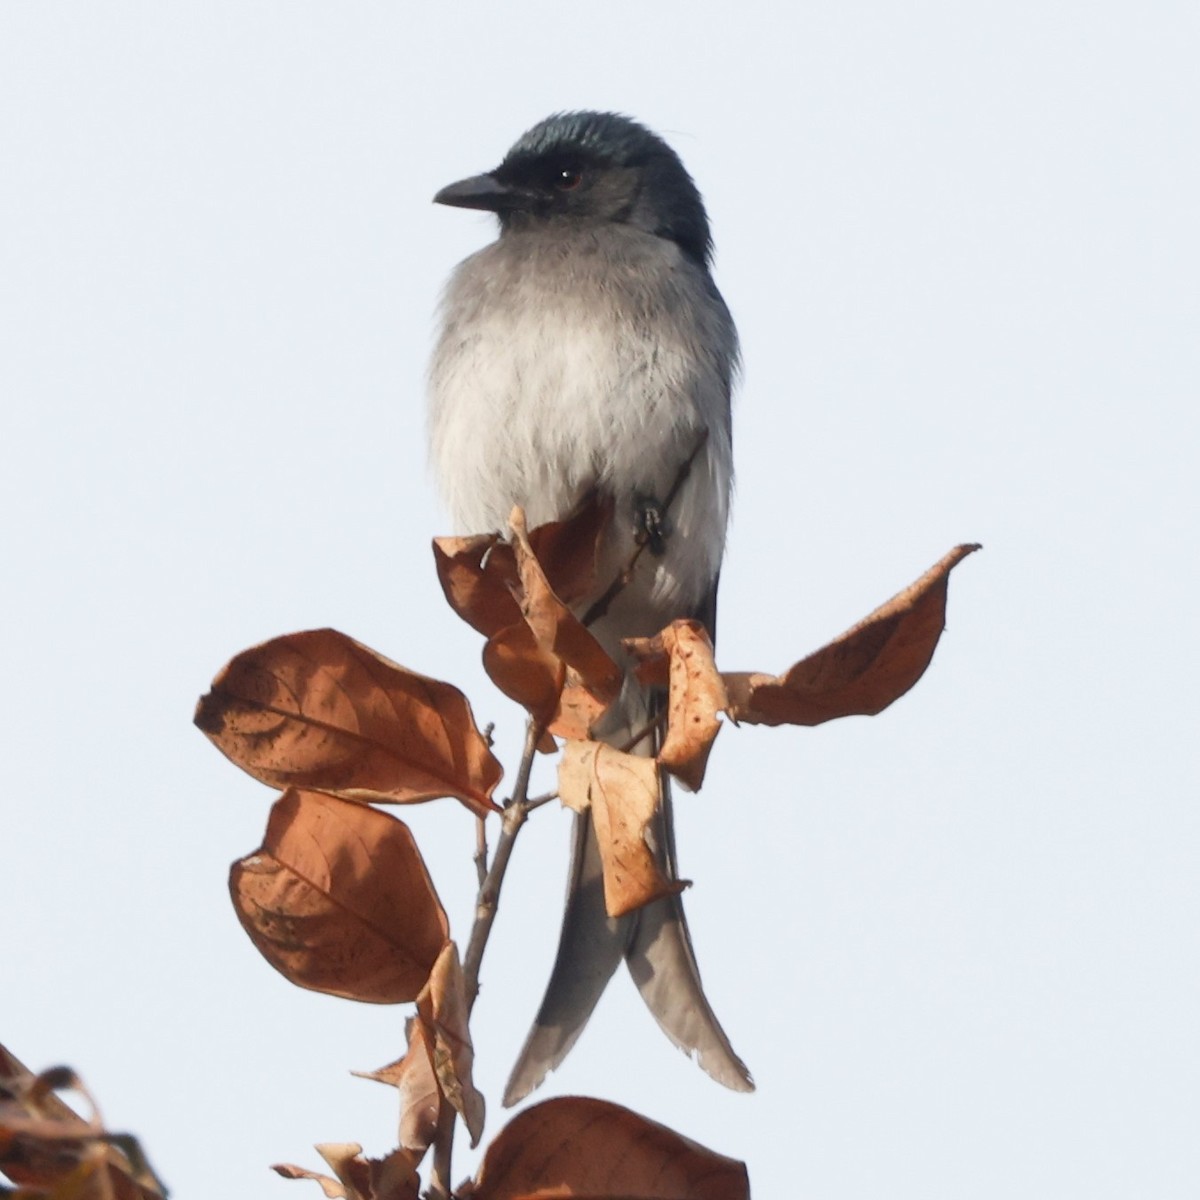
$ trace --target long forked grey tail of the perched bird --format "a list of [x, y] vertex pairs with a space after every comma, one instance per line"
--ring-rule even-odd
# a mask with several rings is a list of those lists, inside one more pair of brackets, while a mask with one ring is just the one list
[[[644, 716], [647, 702], [638, 698], [642, 703], [635, 707]], [[648, 707], [653, 713], [661, 703], [661, 696], [654, 695]], [[622, 724], [620, 731], [607, 731], [604, 740], [628, 744], [634, 726], [628, 716]], [[642, 749], [634, 752], [653, 754], [649, 742], [644, 739]], [[678, 878], [665, 776], [650, 840], [664, 874]], [[622, 959], [654, 1019], [680, 1050], [695, 1054], [719, 1084], [739, 1092], [754, 1090], [745, 1063], [734, 1054], [704, 995], [679, 896], [655, 900], [624, 917], [610, 917], [592, 815], [583, 812], [575, 817], [558, 954], [541, 1008], [509, 1076], [505, 1106], [528, 1096], [566, 1057]]]

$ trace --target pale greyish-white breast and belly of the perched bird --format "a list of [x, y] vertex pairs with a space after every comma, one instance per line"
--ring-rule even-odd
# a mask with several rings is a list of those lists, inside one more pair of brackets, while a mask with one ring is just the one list
[[[455, 271], [430, 371], [431, 454], [463, 533], [566, 516], [590, 488], [617, 502], [611, 569], [636, 502], [665, 498], [666, 553], [642, 556], [620, 631], [692, 613], [720, 568], [728, 516], [728, 388], [737, 341], [707, 277], [661, 239], [510, 234]], [[632, 625], [642, 628], [630, 628]]]

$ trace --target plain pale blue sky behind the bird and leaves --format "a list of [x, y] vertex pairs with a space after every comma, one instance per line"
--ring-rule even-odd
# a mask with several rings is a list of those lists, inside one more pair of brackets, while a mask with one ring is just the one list
[[[612, 108], [698, 181], [743, 338], [721, 664], [984, 551], [894, 708], [726, 730], [679, 803], [757, 1093], [618, 978], [539, 1098], [626, 1104], [758, 1196], [1194, 1200], [1198, 62], [1193, 2], [0, 5], [0, 1039], [74, 1066], [181, 1200], [394, 1144], [348, 1072], [407, 1009], [251, 947], [226, 880], [272, 793], [192, 708], [334, 625], [467, 690], [511, 778], [424, 445], [439, 288], [492, 226], [430, 199]], [[404, 815], [464, 941], [472, 820]], [[486, 1136], [568, 828], [522, 834], [484, 965]]]

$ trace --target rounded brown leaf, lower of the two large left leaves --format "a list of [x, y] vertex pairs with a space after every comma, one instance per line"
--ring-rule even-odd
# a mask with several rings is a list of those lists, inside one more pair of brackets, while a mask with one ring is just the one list
[[233, 864], [242, 928], [300, 988], [376, 1004], [415, 1000], [448, 923], [407, 826], [320, 792], [286, 792], [262, 848]]

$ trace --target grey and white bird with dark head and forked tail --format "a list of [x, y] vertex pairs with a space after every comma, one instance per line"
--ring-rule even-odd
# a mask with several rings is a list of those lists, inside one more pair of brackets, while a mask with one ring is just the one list
[[[428, 371], [430, 457], [458, 532], [504, 529], [514, 505], [532, 528], [602, 498], [612, 517], [598, 581], [640, 541], [649, 553], [590, 626], [600, 643], [620, 662], [622, 638], [676, 618], [715, 635], [740, 362], [708, 216], [679, 156], [623, 114], [556, 113], [434, 202], [499, 222], [446, 283]], [[628, 750], [661, 703], [629, 671], [593, 736]], [[678, 878], [665, 779], [648, 841]], [[582, 814], [558, 953], [505, 1106], [562, 1063], [622, 960], [677, 1046], [727, 1087], [754, 1090], [704, 995], [679, 896], [610, 917]]]

